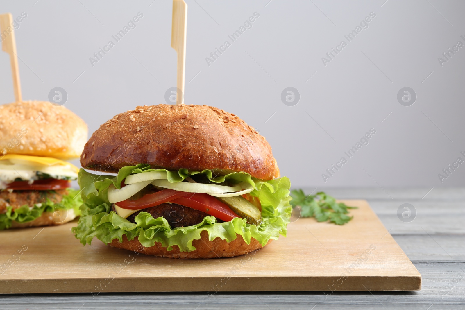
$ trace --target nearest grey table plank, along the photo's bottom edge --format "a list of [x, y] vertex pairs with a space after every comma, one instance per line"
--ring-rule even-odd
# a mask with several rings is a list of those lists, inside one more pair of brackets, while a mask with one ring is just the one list
[[[463, 309], [465, 275], [459, 263], [415, 263], [422, 274], [422, 290], [415, 292], [247, 292], [101, 293], [2, 296], [6, 309]], [[84, 305], [84, 306], [83, 306]]]

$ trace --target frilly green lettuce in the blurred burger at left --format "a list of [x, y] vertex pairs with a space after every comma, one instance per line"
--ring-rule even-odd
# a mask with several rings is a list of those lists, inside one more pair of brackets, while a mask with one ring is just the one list
[[68, 188], [67, 191], [68, 194], [63, 196], [59, 204], [55, 204], [50, 201], [50, 199], [47, 199], [45, 203], [34, 204], [32, 208], [26, 204], [14, 210], [11, 205], [7, 206], [7, 212], [0, 214], [0, 230], [10, 228], [13, 221], [18, 223], [33, 221], [39, 218], [43, 212], [73, 209], [76, 215], [80, 215], [79, 207], [82, 204], [82, 199], [79, 195], [79, 191], [71, 188]]

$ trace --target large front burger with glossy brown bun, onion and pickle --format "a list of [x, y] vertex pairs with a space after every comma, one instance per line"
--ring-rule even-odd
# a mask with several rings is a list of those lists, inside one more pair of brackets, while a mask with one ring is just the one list
[[270, 145], [213, 106], [137, 106], [115, 115], [87, 141], [80, 162], [84, 203], [72, 231], [84, 245], [97, 238], [159, 257], [214, 258], [286, 236], [290, 181], [279, 178]]

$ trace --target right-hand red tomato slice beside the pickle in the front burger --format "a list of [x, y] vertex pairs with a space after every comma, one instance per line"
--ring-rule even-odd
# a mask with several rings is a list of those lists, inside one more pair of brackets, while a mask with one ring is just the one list
[[239, 216], [236, 213], [234, 213], [227, 206], [227, 204], [222, 203], [213, 196], [210, 196], [206, 193], [187, 194], [189, 195], [177, 199], [172, 199], [171, 202], [174, 204], [181, 204], [186, 207], [205, 212], [225, 222], [229, 222], [233, 218], [239, 218]]

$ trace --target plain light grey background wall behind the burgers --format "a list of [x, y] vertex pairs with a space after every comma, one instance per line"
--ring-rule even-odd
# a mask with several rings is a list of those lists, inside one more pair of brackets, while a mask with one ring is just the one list
[[[172, 1], [36, 1], [0, 1], [1, 13], [27, 13], [15, 31], [24, 99], [47, 100], [63, 87], [65, 106], [90, 133], [136, 105], [165, 103], [176, 84]], [[438, 57], [465, 44], [464, 1], [186, 3], [185, 103], [217, 106], [258, 128], [293, 187], [463, 185], [465, 165], [443, 183], [438, 173], [465, 159], [465, 47], [443, 66]], [[91, 66], [93, 53], [138, 12], [136, 28]], [[254, 12], [252, 28], [208, 66], [205, 58]], [[344, 35], [370, 12], [368, 28], [348, 42]], [[324, 66], [341, 40], [347, 46]], [[7, 53], [0, 73], [0, 102], [12, 102]], [[295, 106], [280, 99], [289, 86], [300, 93]], [[403, 87], [417, 94], [412, 106], [397, 101]], [[370, 128], [369, 144], [325, 183], [321, 174]]]

